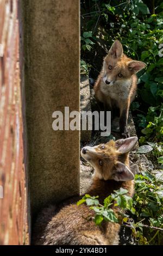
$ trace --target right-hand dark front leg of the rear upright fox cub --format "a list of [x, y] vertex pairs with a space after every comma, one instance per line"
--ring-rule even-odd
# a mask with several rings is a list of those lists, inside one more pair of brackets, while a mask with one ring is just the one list
[[123, 138], [130, 137], [129, 131], [127, 129], [128, 112], [128, 102], [123, 102], [123, 106], [120, 108], [120, 134]]

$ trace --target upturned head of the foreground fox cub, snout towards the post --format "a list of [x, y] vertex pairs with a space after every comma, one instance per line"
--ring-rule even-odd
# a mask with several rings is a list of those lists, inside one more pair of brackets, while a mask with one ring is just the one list
[[127, 181], [133, 180], [134, 174], [129, 169], [128, 154], [137, 142], [137, 137], [118, 139], [95, 147], [84, 147], [82, 157], [95, 168], [99, 179]]

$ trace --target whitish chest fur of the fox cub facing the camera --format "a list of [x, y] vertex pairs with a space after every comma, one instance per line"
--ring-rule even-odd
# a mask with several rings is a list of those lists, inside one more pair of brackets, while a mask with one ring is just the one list
[[114, 100], [127, 100], [130, 92], [131, 80], [117, 81], [112, 86], [101, 80], [100, 88], [105, 96]]

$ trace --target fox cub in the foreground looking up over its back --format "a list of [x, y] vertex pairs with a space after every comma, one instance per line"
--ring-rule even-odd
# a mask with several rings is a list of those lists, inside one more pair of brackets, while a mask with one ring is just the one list
[[[110, 141], [95, 147], [84, 147], [81, 155], [95, 168], [91, 196], [99, 196], [99, 202], [123, 187], [129, 196], [134, 194], [134, 174], [129, 167], [129, 151], [137, 137]], [[33, 243], [35, 245], [117, 245], [120, 224], [93, 221], [93, 210], [86, 204], [77, 205], [81, 197], [67, 199], [58, 206], [43, 209], [38, 216]], [[117, 208], [112, 206], [116, 212]], [[91, 216], [91, 218], [90, 218]]]

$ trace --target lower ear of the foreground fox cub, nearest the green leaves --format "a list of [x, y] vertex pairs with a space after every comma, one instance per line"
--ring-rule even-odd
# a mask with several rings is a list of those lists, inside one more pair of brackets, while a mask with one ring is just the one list
[[117, 162], [113, 169], [112, 179], [116, 181], [133, 180], [134, 174], [124, 163]]

